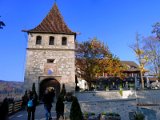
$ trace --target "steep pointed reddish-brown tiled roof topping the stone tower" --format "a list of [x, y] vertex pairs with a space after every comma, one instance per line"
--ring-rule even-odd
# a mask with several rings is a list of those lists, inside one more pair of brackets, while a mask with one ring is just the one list
[[65, 24], [63, 17], [61, 16], [59, 9], [54, 3], [52, 9], [43, 21], [34, 29], [24, 30], [28, 33], [55, 33], [55, 34], [76, 34], [72, 32]]

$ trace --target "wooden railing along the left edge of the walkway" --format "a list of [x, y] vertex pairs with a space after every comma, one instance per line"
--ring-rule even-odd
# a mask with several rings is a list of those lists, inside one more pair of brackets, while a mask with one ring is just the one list
[[9, 103], [8, 114], [11, 115], [22, 109], [22, 100]]

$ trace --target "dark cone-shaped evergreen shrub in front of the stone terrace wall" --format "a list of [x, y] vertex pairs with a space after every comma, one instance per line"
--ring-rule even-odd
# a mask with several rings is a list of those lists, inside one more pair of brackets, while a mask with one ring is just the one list
[[70, 120], [83, 120], [82, 111], [76, 97], [73, 98], [70, 109]]

